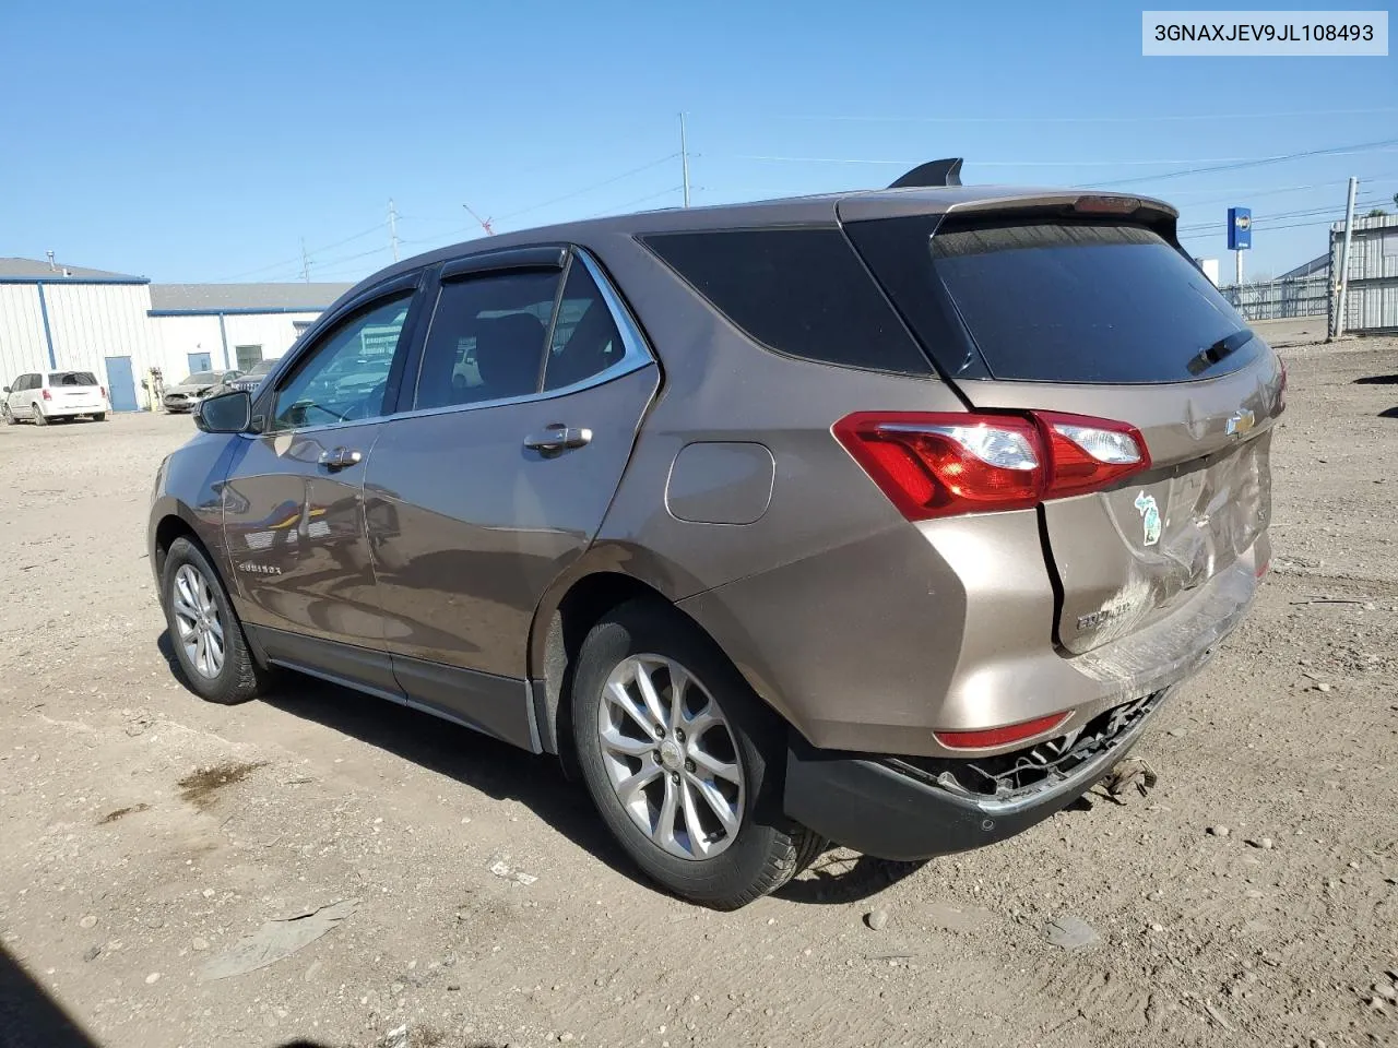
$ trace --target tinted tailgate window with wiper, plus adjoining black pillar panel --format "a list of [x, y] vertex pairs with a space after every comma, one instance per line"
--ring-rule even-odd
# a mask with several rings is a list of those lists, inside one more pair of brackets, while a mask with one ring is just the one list
[[850, 226], [952, 373], [1187, 381], [1237, 370], [1264, 351], [1239, 337], [1247, 323], [1209, 278], [1151, 229], [1021, 221], [946, 222], [928, 233], [928, 219]]

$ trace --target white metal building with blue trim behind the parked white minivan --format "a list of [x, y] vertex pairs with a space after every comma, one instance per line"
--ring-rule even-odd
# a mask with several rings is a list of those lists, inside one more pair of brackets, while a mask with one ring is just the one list
[[0, 383], [88, 370], [115, 411], [150, 407], [143, 381], [281, 356], [348, 284], [151, 284], [105, 270], [0, 259]]

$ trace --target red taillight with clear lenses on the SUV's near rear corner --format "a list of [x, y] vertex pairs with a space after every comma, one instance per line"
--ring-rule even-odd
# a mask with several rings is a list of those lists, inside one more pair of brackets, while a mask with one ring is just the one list
[[858, 412], [832, 432], [909, 520], [1028, 509], [1151, 465], [1135, 426], [1048, 411]]

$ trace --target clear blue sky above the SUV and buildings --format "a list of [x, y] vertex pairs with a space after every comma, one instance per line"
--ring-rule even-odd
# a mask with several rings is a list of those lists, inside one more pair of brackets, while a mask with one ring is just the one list
[[[313, 279], [356, 279], [390, 260], [390, 197], [404, 254], [480, 235], [463, 203], [499, 231], [678, 204], [681, 109], [695, 204], [948, 155], [1113, 183], [1395, 140], [1395, 61], [1146, 59], [1123, 3], [8, 0], [0, 254], [296, 279], [305, 238]], [[1248, 271], [1281, 272], [1349, 175], [1395, 211], [1398, 145], [1130, 184], [1225, 272], [1225, 208], [1251, 204]]]

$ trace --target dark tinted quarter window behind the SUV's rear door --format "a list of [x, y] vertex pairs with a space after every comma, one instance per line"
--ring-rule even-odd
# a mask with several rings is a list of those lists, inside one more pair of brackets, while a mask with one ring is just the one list
[[833, 226], [663, 233], [643, 243], [770, 349], [879, 372], [932, 370]]

